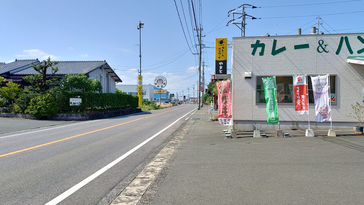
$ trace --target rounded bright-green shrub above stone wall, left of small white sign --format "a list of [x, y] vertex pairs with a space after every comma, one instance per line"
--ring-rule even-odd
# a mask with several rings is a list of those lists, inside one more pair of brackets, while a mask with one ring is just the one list
[[51, 117], [59, 110], [55, 99], [46, 93], [32, 98], [25, 113], [31, 113], [37, 119]]

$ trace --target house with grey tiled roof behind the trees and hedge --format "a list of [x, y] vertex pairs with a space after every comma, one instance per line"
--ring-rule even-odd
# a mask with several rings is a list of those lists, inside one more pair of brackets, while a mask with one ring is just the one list
[[[17, 60], [11, 63], [0, 65], [0, 76], [7, 81], [13, 81], [27, 86], [23, 77], [37, 74], [30, 66], [31, 63], [38, 64], [38, 59]], [[56, 65], [58, 71], [55, 76], [62, 78], [66, 74], [85, 74], [87, 77], [100, 81], [103, 92], [115, 93], [115, 83], [123, 82], [106, 61], [59, 61]], [[48, 69], [47, 74], [51, 75], [52, 70]]]

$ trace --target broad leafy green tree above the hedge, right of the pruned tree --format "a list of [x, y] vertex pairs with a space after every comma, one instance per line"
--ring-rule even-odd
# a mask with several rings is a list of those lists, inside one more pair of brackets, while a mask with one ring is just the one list
[[88, 78], [85, 74], [67, 74], [60, 80], [64, 89], [81, 90], [82, 92], [102, 92], [102, 85], [96, 79]]

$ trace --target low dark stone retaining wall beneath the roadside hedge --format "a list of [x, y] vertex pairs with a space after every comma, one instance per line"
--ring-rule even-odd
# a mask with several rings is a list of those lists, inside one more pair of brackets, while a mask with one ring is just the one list
[[[94, 120], [108, 117], [116, 117], [120, 115], [128, 115], [132, 113], [142, 112], [140, 108], [122, 109], [116, 111], [90, 112], [90, 113], [61, 113], [54, 114], [50, 120]], [[0, 117], [19, 117], [25, 119], [35, 119], [32, 114], [11, 114], [0, 113]]]

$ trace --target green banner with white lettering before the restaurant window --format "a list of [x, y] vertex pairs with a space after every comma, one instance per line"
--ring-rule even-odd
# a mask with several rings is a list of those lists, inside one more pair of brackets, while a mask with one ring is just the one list
[[268, 124], [278, 123], [276, 82], [274, 77], [263, 78], [264, 96], [267, 104]]

